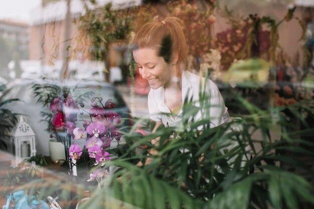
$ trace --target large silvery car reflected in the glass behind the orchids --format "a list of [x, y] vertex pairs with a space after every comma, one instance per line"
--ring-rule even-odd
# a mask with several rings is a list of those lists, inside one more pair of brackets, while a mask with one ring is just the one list
[[[49, 156], [48, 142], [51, 138], [50, 133], [47, 131], [47, 121], [43, 121], [44, 117], [41, 112], [49, 113], [51, 111], [48, 108], [49, 104], [47, 107], [43, 108], [42, 104], [37, 102], [38, 97], [34, 94], [34, 89], [32, 88], [33, 83], [34, 81], [27, 80], [17, 80], [10, 83], [8, 89], [0, 97], [0, 102], [13, 98], [21, 100], [9, 103], [6, 108], [26, 117], [26, 122], [36, 134], [36, 154]], [[53, 82], [53, 85], [60, 85], [63, 90], [65, 87], [69, 88], [70, 94], [74, 99], [80, 97], [83, 101], [84, 107], [80, 107], [80, 110], [85, 113], [83, 115], [78, 114], [77, 127], [81, 126], [80, 120], [90, 120], [90, 116], [87, 112], [89, 112], [91, 108], [90, 100], [93, 97], [102, 97], [103, 102], [112, 99], [116, 107], [111, 110], [121, 116], [121, 124], [118, 128], [127, 130], [127, 127], [130, 125], [130, 110], [120, 92], [113, 85], [96, 81], [66, 81], [66, 85]], [[49, 91], [48, 89], [46, 90]], [[83, 146], [85, 140], [82, 139], [77, 142]], [[9, 139], [7, 139], [7, 143], [10, 145]], [[115, 140], [112, 140], [112, 146], [114, 145]]]

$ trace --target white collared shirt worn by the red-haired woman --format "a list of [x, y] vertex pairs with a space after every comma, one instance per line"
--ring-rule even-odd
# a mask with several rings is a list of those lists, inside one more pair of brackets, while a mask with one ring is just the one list
[[[200, 82], [202, 82], [202, 92], [205, 92], [209, 99], [209, 104], [206, 105], [206, 107], [209, 106], [209, 109], [200, 108]], [[193, 104], [199, 108], [195, 116], [195, 121], [208, 118], [208, 120], [210, 120], [210, 128], [219, 126], [228, 121], [228, 108], [225, 106], [224, 100], [213, 81], [208, 79], [205, 82], [205, 78], [195, 75], [189, 71], [185, 71], [182, 74], [182, 104], [184, 104], [186, 97], [188, 98], [188, 101], [192, 100]], [[162, 121], [165, 126], [174, 126], [179, 130], [182, 130], [184, 126], [189, 126], [189, 124], [183, 124], [182, 122], [182, 107], [180, 109], [179, 115], [176, 117], [171, 114], [170, 109], [165, 104], [164, 86], [160, 87], [159, 89], [150, 89], [147, 103], [150, 115], [149, 117], [151, 120]], [[205, 117], [205, 115], [208, 117]], [[191, 120], [192, 119], [189, 121]]]

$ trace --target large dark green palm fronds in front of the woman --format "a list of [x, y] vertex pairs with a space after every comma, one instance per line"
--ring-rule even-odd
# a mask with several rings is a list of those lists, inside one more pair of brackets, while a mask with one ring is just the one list
[[[93, 208], [100, 208], [112, 201], [126, 208], [297, 208], [304, 202], [314, 204], [309, 182], [279, 166], [304, 168], [293, 156], [312, 156], [309, 147], [314, 144], [303, 139], [312, 127], [292, 129], [280, 114], [288, 109], [294, 120], [302, 120], [299, 111], [304, 104], [261, 110], [243, 98], [238, 102], [250, 114], [224, 126], [209, 129], [208, 118], [204, 118], [183, 130], [160, 127], [147, 136], [131, 131], [126, 135], [127, 151], [108, 162], [120, 170], [102, 181], [101, 192], [95, 191], [85, 207], [94, 202]], [[183, 124], [199, 110], [191, 105], [184, 108]], [[279, 139], [271, 132], [280, 135]], [[151, 144], [150, 139], [156, 137], [161, 137], [160, 143]], [[143, 151], [136, 154], [140, 145]], [[150, 148], [158, 154], [147, 155]], [[139, 159], [150, 163], [134, 166]]]

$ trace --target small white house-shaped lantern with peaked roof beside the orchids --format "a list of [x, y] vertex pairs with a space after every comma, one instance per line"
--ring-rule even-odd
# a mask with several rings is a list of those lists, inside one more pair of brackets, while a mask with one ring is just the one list
[[36, 155], [35, 133], [22, 115], [12, 131], [11, 147], [15, 155], [11, 161], [13, 166]]

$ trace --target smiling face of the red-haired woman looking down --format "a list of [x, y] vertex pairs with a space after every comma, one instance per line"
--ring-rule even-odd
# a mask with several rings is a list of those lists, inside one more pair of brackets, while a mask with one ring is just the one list
[[157, 56], [157, 51], [151, 48], [133, 50], [133, 57], [137, 63], [139, 73], [146, 79], [152, 89], [170, 86], [175, 75], [175, 65], [165, 62], [163, 57]]

